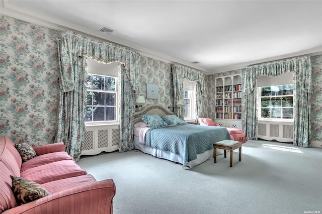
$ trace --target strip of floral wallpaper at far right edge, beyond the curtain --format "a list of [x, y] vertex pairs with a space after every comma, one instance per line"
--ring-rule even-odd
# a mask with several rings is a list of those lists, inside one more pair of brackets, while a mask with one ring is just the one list
[[313, 94], [311, 96], [312, 140], [322, 141], [322, 55], [311, 56]]

